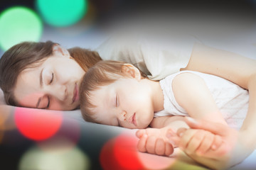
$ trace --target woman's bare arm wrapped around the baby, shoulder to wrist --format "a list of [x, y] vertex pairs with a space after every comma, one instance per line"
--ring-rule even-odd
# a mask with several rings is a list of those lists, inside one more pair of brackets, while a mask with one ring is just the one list
[[[247, 116], [240, 129], [238, 142], [233, 148], [232, 157], [230, 157], [231, 164], [238, 164], [256, 147], [256, 135], [252, 135], [255, 134], [256, 129], [256, 60], [242, 57], [233, 52], [196, 44], [191, 60], [185, 69], [223, 77], [249, 91], [250, 101]], [[203, 125], [201, 125], [201, 128], [203, 128]], [[223, 128], [221, 132], [215, 132], [215, 134], [227, 131], [223, 139], [227, 143], [232, 143], [234, 137], [237, 136], [235, 132], [229, 133], [228, 127], [226, 129]]]

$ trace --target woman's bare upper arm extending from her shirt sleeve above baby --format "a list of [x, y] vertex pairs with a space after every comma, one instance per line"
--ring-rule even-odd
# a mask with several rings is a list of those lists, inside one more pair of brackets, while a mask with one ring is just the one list
[[256, 60], [196, 43], [186, 68], [228, 79], [244, 89], [256, 77]]

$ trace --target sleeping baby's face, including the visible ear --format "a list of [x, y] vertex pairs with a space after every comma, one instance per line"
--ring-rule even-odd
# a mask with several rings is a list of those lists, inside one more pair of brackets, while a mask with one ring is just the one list
[[137, 79], [118, 79], [91, 92], [92, 108], [97, 122], [105, 125], [140, 129], [154, 118], [152, 99]]

